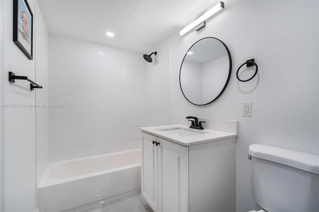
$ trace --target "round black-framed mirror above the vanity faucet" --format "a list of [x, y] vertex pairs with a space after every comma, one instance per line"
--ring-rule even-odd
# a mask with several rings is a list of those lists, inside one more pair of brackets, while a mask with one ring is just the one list
[[205, 37], [186, 52], [180, 66], [179, 84], [191, 104], [202, 106], [217, 100], [224, 92], [231, 74], [227, 46], [214, 37]]

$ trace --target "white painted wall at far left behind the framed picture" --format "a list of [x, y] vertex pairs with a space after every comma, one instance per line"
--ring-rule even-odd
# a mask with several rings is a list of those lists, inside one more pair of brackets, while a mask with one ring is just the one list
[[[35, 2], [28, 0], [35, 15]], [[35, 104], [30, 83], [9, 83], [8, 72], [35, 79], [29, 60], [12, 41], [12, 1], [4, 4], [4, 104]], [[34, 33], [34, 31], [33, 31]], [[33, 37], [34, 50], [34, 37]], [[34, 52], [33, 52], [34, 53]], [[4, 108], [4, 211], [36, 211], [35, 109]]]

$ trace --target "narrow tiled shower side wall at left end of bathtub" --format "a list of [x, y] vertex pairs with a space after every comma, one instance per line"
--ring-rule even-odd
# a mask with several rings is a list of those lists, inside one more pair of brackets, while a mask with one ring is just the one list
[[[35, 1], [35, 104], [49, 104], [48, 32], [40, 8]], [[49, 160], [49, 108], [35, 108], [36, 182], [39, 184]]]

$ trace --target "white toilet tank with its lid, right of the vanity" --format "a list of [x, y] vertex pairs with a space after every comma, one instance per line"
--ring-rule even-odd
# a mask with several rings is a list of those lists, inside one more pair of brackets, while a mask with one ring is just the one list
[[268, 212], [319, 212], [319, 155], [252, 144], [255, 200]]

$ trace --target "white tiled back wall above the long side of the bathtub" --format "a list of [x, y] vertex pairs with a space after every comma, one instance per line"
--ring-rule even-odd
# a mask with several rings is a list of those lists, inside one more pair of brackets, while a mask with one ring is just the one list
[[142, 54], [49, 35], [49, 83], [51, 162], [140, 148]]

